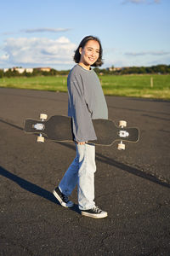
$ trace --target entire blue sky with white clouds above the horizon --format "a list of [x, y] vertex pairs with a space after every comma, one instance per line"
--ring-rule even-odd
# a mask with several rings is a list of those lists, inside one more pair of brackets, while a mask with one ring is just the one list
[[170, 64], [170, 0], [0, 0], [0, 68], [71, 69], [82, 38], [105, 67]]

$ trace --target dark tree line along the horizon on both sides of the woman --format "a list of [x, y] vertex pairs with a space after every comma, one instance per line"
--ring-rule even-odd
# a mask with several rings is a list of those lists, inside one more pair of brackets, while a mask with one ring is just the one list
[[[110, 67], [110, 68], [99, 68], [95, 67], [94, 71], [99, 75], [126, 75], [126, 74], [169, 74], [170, 73], [170, 65], [156, 65], [152, 67]], [[3, 77], [34, 77], [34, 76], [66, 76], [70, 70], [56, 70], [51, 68], [49, 72], [41, 71], [37, 68], [33, 69], [32, 73], [19, 73], [14, 69], [8, 69], [8, 71], [4, 72], [3, 69], [0, 70], [0, 79]]]

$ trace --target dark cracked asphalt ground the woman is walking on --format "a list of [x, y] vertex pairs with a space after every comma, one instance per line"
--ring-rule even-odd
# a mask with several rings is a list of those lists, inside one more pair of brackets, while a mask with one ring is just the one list
[[170, 255], [170, 102], [107, 96], [109, 118], [140, 129], [125, 151], [96, 147], [95, 201], [108, 218], [82, 217], [51, 193], [73, 143], [36, 143], [26, 118], [67, 114], [67, 94], [0, 88], [0, 255]]

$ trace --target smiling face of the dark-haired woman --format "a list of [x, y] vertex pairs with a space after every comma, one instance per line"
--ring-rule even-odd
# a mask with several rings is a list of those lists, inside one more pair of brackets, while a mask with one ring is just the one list
[[89, 40], [84, 48], [79, 49], [79, 52], [81, 54], [79, 65], [89, 69], [99, 58], [99, 43], [95, 40]]

